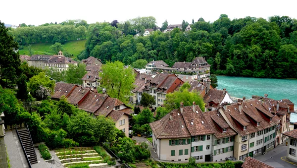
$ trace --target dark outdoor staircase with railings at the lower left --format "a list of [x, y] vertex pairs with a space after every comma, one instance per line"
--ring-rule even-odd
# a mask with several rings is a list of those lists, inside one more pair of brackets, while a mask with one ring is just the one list
[[32, 165], [38, 163], [37, 156], [28, 129], [20, 129], [17, 132], [19, 134], [21, 142], [23, 143], [30, 164]]

